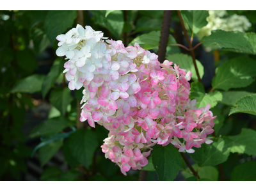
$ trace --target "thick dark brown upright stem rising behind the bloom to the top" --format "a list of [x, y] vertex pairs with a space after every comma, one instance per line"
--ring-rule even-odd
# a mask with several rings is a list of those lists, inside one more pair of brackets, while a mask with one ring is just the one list
[[164, 11], [162, 28], [161, 28], [161, 36], [159, 41], [159, 49], [158, 49], [158, 61], [163, 63], [165, 60], [166, 47], [168, 43], [168, 37], [170, 33], [170, 26], [172, 20], [172, 11]]

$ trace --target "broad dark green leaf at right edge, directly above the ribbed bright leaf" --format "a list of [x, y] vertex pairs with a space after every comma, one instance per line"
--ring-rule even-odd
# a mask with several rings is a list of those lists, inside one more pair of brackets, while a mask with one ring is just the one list
[[216, 68], [212, 89], [227, 91], [245, 87], [254, 81], [252, 76], [256, 76], [256, 61], [248, 57], [234, 58]]

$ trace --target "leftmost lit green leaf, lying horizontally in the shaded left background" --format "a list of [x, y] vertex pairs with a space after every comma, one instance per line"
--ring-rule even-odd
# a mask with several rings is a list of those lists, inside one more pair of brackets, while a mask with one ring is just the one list
[[42, 84], [45, 76], [34, 74], [28, 76], [24, 79], [20, 79], [17, 83], [14, 84], [11, 93], [35, 93], [42, 90]]

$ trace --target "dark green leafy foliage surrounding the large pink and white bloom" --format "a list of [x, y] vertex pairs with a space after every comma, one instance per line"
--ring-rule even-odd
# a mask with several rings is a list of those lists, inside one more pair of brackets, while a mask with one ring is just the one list
[[[161, 10], [84, 11], [82, 25], [104, 32], [109, 39], [122, 40], [125, 46], [137, 42], [157, 54], [163, 13]], [[177, 12], [173, 11], [166, 59], [186, 68], [187, 72], [191, 70], [189, 99], [197, 100], [197, 108], [211, 104], [212, 115], [217, 116], [215, 136], [211, 135], [213, 143], [193, 147], [195, 153], [189, 154], [189, 161], [200, 179], [186, 166], [178, 149], [169, 144], [153, 147], [147, 166], [142, 168], [147, 172], [145, 180], [182, 177], [186, 181], [216, 181], [223, 175], [225, 180], [256, 180], [256, 12], [228, 11], [225, 17], [235, 13], [245, 15], [252, 23], [246, 33], [218, 29], [204, 36], [200, 40], [201, 48], [195, 49], [201, 79], [211, 76], [208, 64], [214, 63], [211, 68], [214, 77], [207, 84], [198, 82], [190, 53], [185, 54], [186, 51], [177, 46], [188, 47], [183, 32], [178, 30]], [[209, 12], [193, 10], [181, 14], [194, 45], [196, 34], [208, 23]], [[82, 129], [76, 129], [81, 113], [77, 103], [83, 97], [83, 90], [69, 90], [62, 73], [67, 60], [56, 56], [56, 36], [76, 28], [76, 18], [75, 10], [0, 11], [1, 180], [26, 180], [24, 175], [31, 171], [30, 161], [38, 162], [43, 170], [38, 179], [44, 181], [139, 179], [140, 170], [131, 170], [124, 176], [117, 164], [106, 159], [100, 146], [108, 137], [107, 129], [98, 124], [94, 129], [87, 122]], [[205, 47], [212, 51], [200, 52]], [[202, 60], [205, 55], [213, 54], [220, 59]], [[47, 112], [40, 111], [45, 108]], [[33, 116], [29, 116], [31, 113]], [[33, 151], [38, 144], [41, 145]], [[36, 153], [33, 159], [32, 152]], [[61, 165], [60, 159], [56, 159], [58, 154], [64, 157]], [[52, 162], [58, 166], [52, 166]]]

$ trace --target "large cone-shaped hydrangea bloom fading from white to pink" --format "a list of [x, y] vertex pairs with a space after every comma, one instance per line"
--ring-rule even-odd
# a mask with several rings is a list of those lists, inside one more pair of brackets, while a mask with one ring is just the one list
[[108, 129], [101, 146], [106, 158], [126, 175], [148, 163], [152, 146], [172, 143], [179, 152], [212, 143], [214, 118], [189, 99], [191, 72], [140, 45], [124, 47], [122, 41], [106, 40], [90, 26], [77, 25], [57, 36], [58, 56], [66, 56], [64, 73], [70, 90], [82, 86], [82, 122]]

